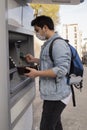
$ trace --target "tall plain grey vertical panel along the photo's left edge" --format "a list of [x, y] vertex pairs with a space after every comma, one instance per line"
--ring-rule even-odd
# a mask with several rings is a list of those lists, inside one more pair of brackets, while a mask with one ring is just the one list
[[9, 118], [9, 68], [7, 38], [7, 3], [0, 0], [0, 130], [10, 130]]

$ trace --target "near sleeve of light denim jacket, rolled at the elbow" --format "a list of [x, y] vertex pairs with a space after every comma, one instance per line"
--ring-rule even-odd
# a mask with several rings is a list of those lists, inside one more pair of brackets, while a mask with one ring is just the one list
[[56, 40], [52, 49], [54, 67], [52, 68], [58, 78], [65, 76], [70, 69], [71, 51], [63, 40]]

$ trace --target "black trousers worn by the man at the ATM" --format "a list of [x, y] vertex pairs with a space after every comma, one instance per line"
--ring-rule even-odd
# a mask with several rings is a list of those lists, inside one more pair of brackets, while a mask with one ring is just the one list
[[61, 113], [65, 108], [61, 101], [44, 101], [40, 130], [63, 130]]

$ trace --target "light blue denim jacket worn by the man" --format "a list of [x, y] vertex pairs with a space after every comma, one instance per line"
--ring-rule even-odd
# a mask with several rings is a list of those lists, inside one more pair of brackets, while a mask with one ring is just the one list
[[62, 100], [71, 92], [66, 77], [71, 62], [71, 52], [68, 44], [61, 39], [55, 40], [52, 49], [54, 62], [51, 61], [49, 56], [49, 46], [56, 37], [59, 37], [57, 33], [41, 47], [40, 70], [52, 69], [56, 74], [56, 78], [40, 77], [39, 89], [43, 100]]

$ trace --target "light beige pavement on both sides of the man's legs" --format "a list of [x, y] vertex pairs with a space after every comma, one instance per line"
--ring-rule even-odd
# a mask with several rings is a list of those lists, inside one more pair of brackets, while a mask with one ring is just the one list
[[[76, 107], [72, 99], [62, 114], [64, 130], [87, 130], [87, 67], [84, 67], [82, 92], [75, 90]], [[39, 95], [38, 79], [36, 79], [36, 98], [33, 102], [34, 129], [39, 130], [42, 113], [42, 100]]]

